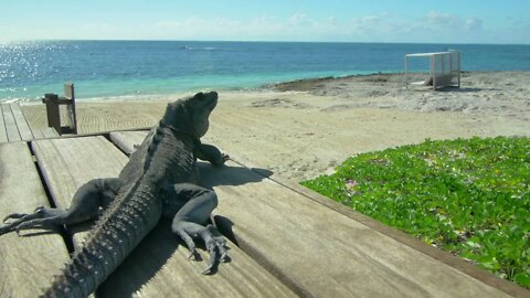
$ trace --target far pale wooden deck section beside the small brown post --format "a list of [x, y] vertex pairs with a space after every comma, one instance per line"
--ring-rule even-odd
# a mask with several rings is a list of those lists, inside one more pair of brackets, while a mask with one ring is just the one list
[[0, 142], [29, 141], [56, 138], [57, 131], [51, 127], [31, 129], [18, 103], [0, 105]]

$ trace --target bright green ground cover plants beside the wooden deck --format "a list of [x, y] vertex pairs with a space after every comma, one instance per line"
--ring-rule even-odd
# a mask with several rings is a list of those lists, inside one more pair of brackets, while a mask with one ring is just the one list
[[426, 140], [301, 184], [530, 288], [530, 138]]

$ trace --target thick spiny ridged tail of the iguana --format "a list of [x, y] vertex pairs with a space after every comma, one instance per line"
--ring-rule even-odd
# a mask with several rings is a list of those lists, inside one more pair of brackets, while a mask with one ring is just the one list
[[[118, 194], [119, 196], [119, 194]], [[137, 181], [117, 200], [74, 253], [61, 275], [42, 297], [87, 297], [119, 266], [161, 216], [161, 202], [153, 191]], [[124, 198], [124, 199], [125, 199]]]

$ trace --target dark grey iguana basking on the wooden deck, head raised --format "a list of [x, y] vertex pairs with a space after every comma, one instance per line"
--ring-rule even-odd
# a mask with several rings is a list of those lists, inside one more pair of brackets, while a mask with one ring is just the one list
[[190, 257], [195, 255], [193, 238], [204, 241], [210, 254], [204, 274], [225, 259], [225, 240], [214, 226], [204, 226], [218, 198], [212, 190], [194, 184], [197, 158], [214, 166], [229, 159], [214, 146], [200, 142], [216, 103], [218, 94], [211, 92], [169, 104], [119, 177], [82, 185], [67, 210], [38, 207], [34, 213], [12, 213], [4, 219], [0, 235], [98, 217], [82, 248], [43, 297], [86, 297], [94, 292], [162, 216], [173, 219], [171, 230], [186, 242]]

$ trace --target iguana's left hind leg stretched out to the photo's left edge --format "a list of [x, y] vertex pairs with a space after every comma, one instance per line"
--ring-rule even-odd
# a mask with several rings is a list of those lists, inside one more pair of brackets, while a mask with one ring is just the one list
[[39, 206], [33, 213], [11, 213], [3, 219], [0, 235], [36, 226], [72, 225], [98, 216], [114, 200], [121, 182], [117, 178], [94, 179], [83, 184], [74, 194], [67, 210]]

